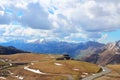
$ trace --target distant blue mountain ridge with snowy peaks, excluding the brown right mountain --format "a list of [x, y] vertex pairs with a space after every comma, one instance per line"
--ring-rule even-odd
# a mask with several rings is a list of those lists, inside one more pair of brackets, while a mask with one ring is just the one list
[[88, 55], [90, 51], [96, 50], [97, 48], [104, 46], [104, 44], [94, 41], [88, 41], [84, 43], [69, 43], [62, 41], [50, 41], [45, 39], [33, 40], [28, 42], [17, 40], [0, 44], [4, 46], [15, 46], [18, 49], [30, 51], [33, 53], [52, 53], [52, 54], [67, 53], [71, 57], [85, 56]]

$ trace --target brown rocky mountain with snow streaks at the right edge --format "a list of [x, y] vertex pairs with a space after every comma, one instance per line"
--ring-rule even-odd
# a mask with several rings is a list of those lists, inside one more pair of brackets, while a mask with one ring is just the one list
[[100, 65], [120, 63], [120, 41], [106, 44], [98, 54], [92, 54], [83, 60]]

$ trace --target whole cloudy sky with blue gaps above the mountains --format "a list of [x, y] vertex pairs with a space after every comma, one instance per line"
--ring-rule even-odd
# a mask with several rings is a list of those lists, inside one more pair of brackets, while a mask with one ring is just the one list
[[0, 0], [0, 42], [120, 40], [120, 0]]

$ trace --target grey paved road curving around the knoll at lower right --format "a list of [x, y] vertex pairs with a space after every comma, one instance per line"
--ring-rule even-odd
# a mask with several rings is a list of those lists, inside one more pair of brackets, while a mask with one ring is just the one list
[[80, 80], [94, 80], [94, 79], [96, 79], [98, 77], [101, 77], [101, 76], [111, 72], [111, 70], [109, 68], [107, 68], [107, 67], [102, 67], [101, 66], [101, 68], [102, 68], [102, 72], [91, 75], [91, 76], [88, 76], [88, 77], [80, 79]]

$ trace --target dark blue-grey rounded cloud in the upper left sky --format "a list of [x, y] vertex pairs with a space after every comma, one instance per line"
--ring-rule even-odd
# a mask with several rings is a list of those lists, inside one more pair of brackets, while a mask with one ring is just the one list
[[48, 13], [38, 3], [30, 3], [23, 13], [21, 23], [24, 25], [34, 29], [50, 29], [52, 27], [48, 20]]

